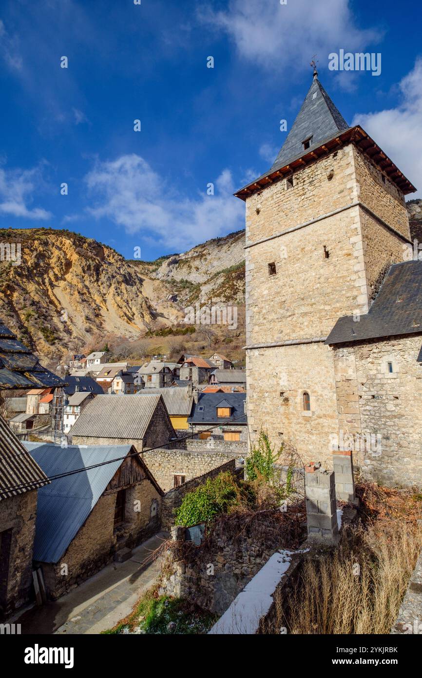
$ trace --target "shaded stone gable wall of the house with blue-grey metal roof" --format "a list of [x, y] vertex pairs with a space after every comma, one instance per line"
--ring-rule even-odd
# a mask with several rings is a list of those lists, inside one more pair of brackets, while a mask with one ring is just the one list
[[[43, 563], [45, 586], [51, 599], [96, 574], [119, 549], [124, 546], [131, 549], [159, 530], [160, 511], [152, 517], [150, 510], [154, 500], [160, 506], [161, 496], [148, 479], [128, 488], [125, 523], [114, 530], [116, 497], [117, 492], [100, 497], [60, 561]], [[135, 511], [135, 500], [140, 501], [140, 511]], [[67, 566], [67, 574], [62, 574], [63, 565]]]

